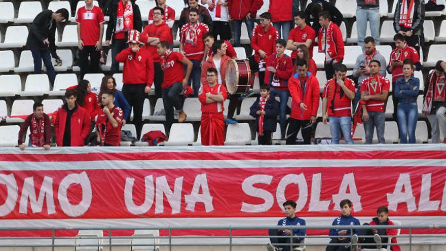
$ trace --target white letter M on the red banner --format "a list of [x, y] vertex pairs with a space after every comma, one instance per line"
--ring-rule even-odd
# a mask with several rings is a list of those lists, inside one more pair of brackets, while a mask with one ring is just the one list
[[44, 199], [47, 201], [48, 214], [56, 213], [53, 198], [53, 178], [45, 176], [39, 192], [39, 199], [36, 199], [34, 188], [34, 177], [27, 177], [23, 181], [22, 195], [20, 197], [20, 213], [28, 212], [28, 199], [31, 204], [32, 213], [42, 212]]

